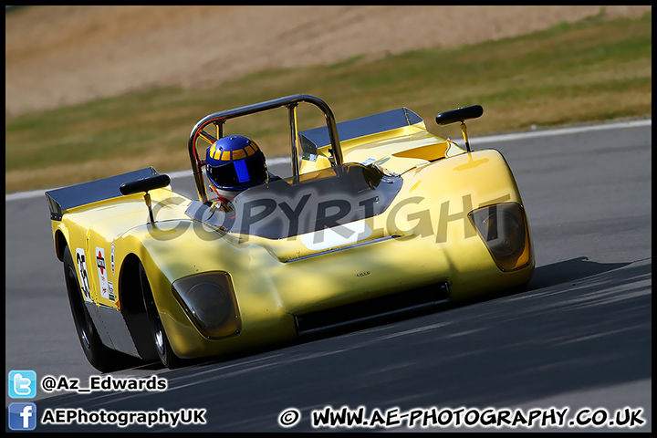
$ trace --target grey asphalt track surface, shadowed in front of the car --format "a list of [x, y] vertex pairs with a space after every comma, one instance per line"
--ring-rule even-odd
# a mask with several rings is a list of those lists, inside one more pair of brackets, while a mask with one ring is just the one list
[[[534, 408], [567, 410], [560, 427], [541, 428], [538, 420], [532, 428], [465, 427], [476, 416], [471, 412], [460, 426], [457, 413], [446, 427], [422, 429], [417, 420], [415, 431], [652, 431], [651, 120], [471, 137], [471, 144], [502, 151], [516, 175], [537, 255], [535, 275], [523, 290], [249, 356], [112, 373], [157, 375], [166, 379], [166, 391], [39, 388], [26, 400], [36, 402], [37, 418], [62, 408], [198, 408], [205, 410], [205, 423], [173, 429], [39, 423], [36, 432], [301, 432], [316, 430], [311, 412], [325, 407], [362, 407], [366, 419], [388, 413], [392, 427], [320, 431], [402, 431], [410, 423], [410, 415], [402, 415], [415, 408], [464, 408], [462, 416], [486, 408], [527, 415]], [[172, 186], [193, 193], [190, 178], [175, 178]], [[5, 376], [35, 370], [37, 380], [67, 376], [89, 387], [89, 376], [104, 375], [89, 365], [75, 335], [46, 200], [7, 196], [5, 206]], [[12, 401], [22, 400], [5, 393], [5, 406]], [[300, 419], [283, 429], [278, 419], [289, 408]], [[621, 420], [639, 412], [644, 422], [610, 426], [619, 411]], [[585, 427], [570, 424], [578, 412], [580, 420], [589, 419]]]

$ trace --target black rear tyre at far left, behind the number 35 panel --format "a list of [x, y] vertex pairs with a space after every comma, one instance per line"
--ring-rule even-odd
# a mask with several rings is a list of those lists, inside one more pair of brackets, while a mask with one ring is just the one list
[[82, 299], [81, 288], [78, 282], [78, 270], [73, 262], [68, 245], [64, 248], [64, 277], [68, 291], [68, 302], [70, 304], [73, 321], [82, 350], [87, 356], [89, 363], [102, 372], [121, 370], [129, 367], [136, 359], [123, 354], [115, 349], [103, 345], [98, 330], [89, 316], [89, 310], [85, 307]]

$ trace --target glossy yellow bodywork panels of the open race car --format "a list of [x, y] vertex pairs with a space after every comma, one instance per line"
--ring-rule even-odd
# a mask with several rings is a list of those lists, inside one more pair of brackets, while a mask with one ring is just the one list
[[[64, 235], [74, 257], [75, 248], [84, 248], [93, 260], [100, 247], [109, 260], [114, 245], [114, 269], [109, 261], [106, 267], [115, 300], [101, 296], [98, 270], [88, 262], [91, 298], [99, 305], [120, 308], [121, 266], [128, 255], [137, 255], [172, 349], [181, 358], [294, 339], [293, 315], [410, 287], [445, 281], [451, 297], [459, 300], [527, 283], [533, 254], [525, 268], [502, 272], [467, 218], [480, 206], [522, 204], [498, 151], [466, 153], [423, 123], [344, 141], [342, 148], [345, 162], [373, 160], [385, 172], [402, 176], [401, 191], [388, 209], [365, 221], [372, 230], [368, 240], [395, 238], [325, 253], [308, 249], [302, 236], [271, 240], [224, 233], [186, 216], [191, 200], [169, 188], [150, 192], [155, 224], [149, 224], [138, 193], [71, 209], [61, 222], [53, 221], [53, 232]], [[318, 157], [301, 167], [312, 172], [328, 165]], [[242, 319], [237, 336], [205, 339], [172, 296], [173, 281], [211, 270], [232, 276]]]

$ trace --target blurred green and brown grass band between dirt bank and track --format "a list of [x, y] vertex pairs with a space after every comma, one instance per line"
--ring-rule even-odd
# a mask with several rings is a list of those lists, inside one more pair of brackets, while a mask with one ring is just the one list
[[[592, 17], [528, 36], [378, 60], [255, 72], [206, 89], [149, 89], [83, 105], [5, 116], [6, 192], [81, 183], [153, 165], [189, 168], [187, 140], [207, 114], [296, 93], [324, 99], [338, 121], [409, 107], [432, 132], [437, 112], [481, 104], [471, 136], [652, 116], [652, 14]], [[301, 128], [323, 124], [299, 110]], [[268, 157], [289, 153], [285, 110], [230, 120]]]

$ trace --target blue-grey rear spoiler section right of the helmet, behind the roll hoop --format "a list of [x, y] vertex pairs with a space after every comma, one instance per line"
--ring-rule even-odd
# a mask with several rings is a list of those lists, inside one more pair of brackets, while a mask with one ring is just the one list
[[[423, 121], [422, 117], [403, 107], [361, 117], [360, 119], [341, 121], [337, 124], [338, 136], [340, 141], [348, 141], [387, 130], [412, 126]], [[301, 143], [301, 151], [305, 156], [317, 155], [318, 148], [330, 144], [328, 130], [325, 126], [312, 130], [300, 130], [299, 142]]]

